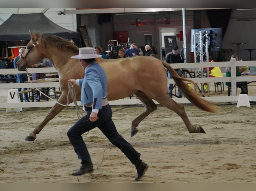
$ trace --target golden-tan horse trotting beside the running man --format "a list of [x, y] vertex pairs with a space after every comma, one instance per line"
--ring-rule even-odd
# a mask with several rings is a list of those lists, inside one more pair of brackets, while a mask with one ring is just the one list
[[[78, 47], [55, 35], [40, 35], [38, 33], [32, 33], [31, 31], [29, 32], [31, 40], [27, 44], [22, 57], [17, 62], [18, 70], [25, 71], [33, 64], [40, 62], [44, 58], [48, 58], [59, 75], [62, 94], [58, 102], [64, 105], [67, 104], [69, 91], [68, 80], [82, 79], [85, 73], [79, 60], [71, 58], [73, 55], [78, 55]], [[168, 63], [149, 56], [113, 60], [97, 58], [96, 62], [102, 66], [107, 74], [108, 100], [121, 99], [135, 94], [145, 106], [145, 111], [132, 121], [131, 136], [137, 133], [138, 124], [157, 108], [157, 105], [152, 99], [176, 112], [182, 118], [189, 133], [205, 133], [201, 125], [192, 125], [190, 123], [184, 106], [175, 102], [168, 95], [165, 68], [168, 69], [183, 95], [185, 95], [192, 104], [208, 112], [216, 112], [216, 109], [210, 102], [199, 97], [198, 94], [194, 90], [191, 90], [184, 82], [188, 81], [194, 84], [193, 81], [179, 77]], [[81, 87], [75, 87], [77, 100], [80, 100]], [[72, 100], [71, 97], [69, 97], [69, 100]], [[36, 134], [38, 134], [47, 122], [63, 108], [65, 108], [65, 106], [56, 103], [48, 111], [43, 121], [27, 135], [26, 140], [35, 140]]]

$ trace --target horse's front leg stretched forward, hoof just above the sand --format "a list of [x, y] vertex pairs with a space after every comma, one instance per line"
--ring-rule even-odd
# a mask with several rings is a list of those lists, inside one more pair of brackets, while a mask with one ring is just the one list
[[[62, 93], [58, 99], [58, 102], [66, 105], [67, 104], [67, 94]], [[72, 103], [73, 100], [70, 98], [69, 103]], [[53, 107], [48, 111], [46, 116], [44, 117], [43, 121], [35, 127], [35, 129], [27, 135], [25, 138], [26, 141], [33, 141], [36, 139], [36, 134], [38, 134], [43, 127], [51, 120], [53, 119], [62, 109], [64, 109], [66, 106], [60, 105], [59, 103], [55, 103]]]

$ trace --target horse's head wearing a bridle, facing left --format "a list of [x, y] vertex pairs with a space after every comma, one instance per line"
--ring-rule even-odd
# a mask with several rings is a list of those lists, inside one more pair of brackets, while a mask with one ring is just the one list
[[31, 68], [32, 65], [41, 62], [44, 57], [41, 54], [39, 47], [39, 34], [34, 34], [29, 30], [31, 40], [26, 46], [24, 53], [20, 56], [17, 64], [19, 71], [26, 71], [27, 68]]

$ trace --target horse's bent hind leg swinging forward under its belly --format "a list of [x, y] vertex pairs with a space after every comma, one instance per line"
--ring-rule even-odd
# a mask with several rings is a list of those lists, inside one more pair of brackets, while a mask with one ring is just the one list
[[137, 126], [139, 123], [147, 117], [152, 111], [157, 109], [157, 105], [154, 103], [154, 101], [149, 98], [146, 94], [143, 92], [138, 92], [136, 93], [136, 96], [138, 97], [139, 100], [143, 103], [145, 107], [145, 111], [142, 112], [138, 117], [136, 117], [132, 121], [132, 127], [131, 127], [131, 137], [134, 136], [139, 130], [137, 129]]

